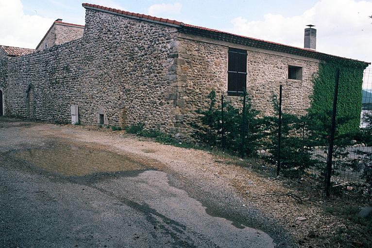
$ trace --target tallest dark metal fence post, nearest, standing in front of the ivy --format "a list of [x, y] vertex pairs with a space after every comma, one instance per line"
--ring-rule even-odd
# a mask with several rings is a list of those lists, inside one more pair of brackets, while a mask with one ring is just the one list
[[329, 149], [328, 149], [328, 157], [327, 157], [327, 174], [326, 174], [326, 181], [325, 181], [326, 196], [330, 196], [331, 194], [332, 155], [333, 155], [333, 142], [335, 140], [335, 131], [336, 131], [339, 73], [340, 73], [339, 69], [337, 69], [336, 74], [335, 74], [335, 94], [333, 97], [332, 126], [331, 126], [331, 133], [329, 135]]

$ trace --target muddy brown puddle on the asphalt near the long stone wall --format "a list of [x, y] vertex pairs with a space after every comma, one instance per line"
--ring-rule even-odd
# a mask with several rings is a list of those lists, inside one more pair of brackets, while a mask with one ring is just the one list
[[37, 167], [65, 176], [148, 169], [121, 155], [63, 144], [54, 145], [50, 149], [27, 149], [16, 153], [15, 156]]

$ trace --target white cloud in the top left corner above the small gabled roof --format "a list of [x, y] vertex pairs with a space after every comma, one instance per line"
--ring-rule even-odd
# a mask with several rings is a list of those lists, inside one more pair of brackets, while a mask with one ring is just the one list
[[0, 45], [35, 48], [53, 21], [25, 15], [20, 0], [0, 0]]

